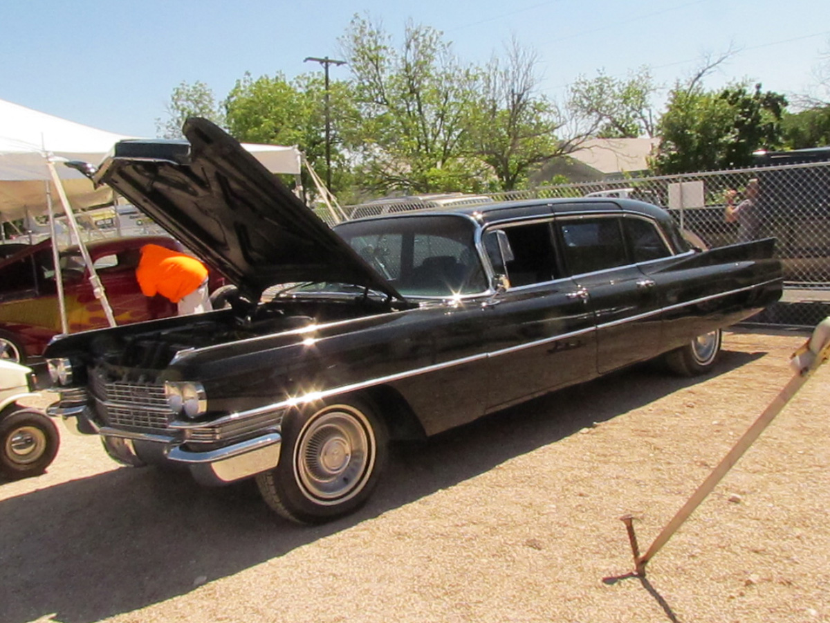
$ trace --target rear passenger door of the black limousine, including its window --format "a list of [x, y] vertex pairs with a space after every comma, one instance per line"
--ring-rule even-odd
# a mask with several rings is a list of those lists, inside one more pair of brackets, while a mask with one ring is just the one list
[[587, 297], [597, 326], [598, 373], [657, 356], [660, 297], [632, 261], [622, 213], [564, 215], [556, 229], [564, 266]]

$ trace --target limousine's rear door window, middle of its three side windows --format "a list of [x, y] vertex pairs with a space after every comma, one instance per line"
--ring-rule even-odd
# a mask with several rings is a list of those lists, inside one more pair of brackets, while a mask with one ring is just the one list
[[572, 275], [628, 263], [622, 218], [583, 218], [559, 223], [564, 258]]

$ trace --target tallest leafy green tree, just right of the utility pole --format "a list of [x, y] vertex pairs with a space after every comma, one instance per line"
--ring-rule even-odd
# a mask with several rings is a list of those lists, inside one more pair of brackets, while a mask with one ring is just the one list
[[473, 73], [442, 33], [408, 22], [396, 49], [382, 25], [354, 16], [340, 45], [357, 117], [344, 138], [363, 183], [380, 192], [477, 189], [482, 165], [463, 145]]

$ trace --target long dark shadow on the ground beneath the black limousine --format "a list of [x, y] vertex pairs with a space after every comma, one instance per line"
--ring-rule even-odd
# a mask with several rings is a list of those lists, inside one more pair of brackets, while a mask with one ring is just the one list
[[[724, 351], [717, 374], [764, 353]], [[249, 482], [201, 488], [187, 473], [119, 468], [0, 502], [0, 621], [86, 623], [193, 591], [353, 527], [586, 426], [698, 382], [648, 365], [396, 444], [369, 503], [323, 526], [285, 522]]]

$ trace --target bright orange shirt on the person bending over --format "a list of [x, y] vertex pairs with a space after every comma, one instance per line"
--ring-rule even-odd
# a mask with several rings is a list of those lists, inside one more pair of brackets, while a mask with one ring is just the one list
[[145, 244], [141, 248], [141, 262], [135, 269], [145, 297], [160, 294], [174, 303], [196, 291], [207, 279], [207, 268], [189, 255]]

